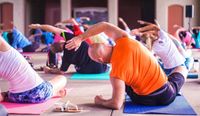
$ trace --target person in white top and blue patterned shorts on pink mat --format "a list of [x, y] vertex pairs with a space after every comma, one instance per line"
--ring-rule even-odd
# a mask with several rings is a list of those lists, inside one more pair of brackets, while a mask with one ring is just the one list
[[66, 77], [58, 75], [50, 81], [44, 81], [1, 36], [0, 46], [0, 78], [9, 83], [7, 92], [0, 91], [0, 101], [40, 103], [53, 96], [66, 95]]

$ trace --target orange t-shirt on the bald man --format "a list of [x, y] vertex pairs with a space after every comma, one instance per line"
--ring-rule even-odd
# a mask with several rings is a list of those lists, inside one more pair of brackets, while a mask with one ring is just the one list
[[141, 43], [127, 37], [116, 41], [110, 77], [123, 80], [138, 95], [148, 95], [167, 82], [155, 57]]

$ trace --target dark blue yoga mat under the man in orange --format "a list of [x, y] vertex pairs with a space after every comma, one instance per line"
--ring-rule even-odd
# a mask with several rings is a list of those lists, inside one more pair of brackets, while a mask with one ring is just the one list
[[128, 114], [169, 114], [169, 115], [196, 115], [183, 96], [177, 96], [174, 102], [167, 106], [136, 105], [126, 99], [124, 113]]

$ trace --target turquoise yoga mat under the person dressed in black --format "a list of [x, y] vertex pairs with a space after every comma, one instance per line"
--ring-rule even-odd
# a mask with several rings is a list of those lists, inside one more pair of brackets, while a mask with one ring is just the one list
[[100, 74], [75, 73], [71, 76], [71, 80], [109, 80], [109, 78], [109, 72]]

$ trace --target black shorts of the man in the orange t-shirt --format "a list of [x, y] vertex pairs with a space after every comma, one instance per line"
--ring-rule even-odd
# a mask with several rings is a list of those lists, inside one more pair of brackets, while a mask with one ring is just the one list
[[132, 102], [142, 105], [168, 105], [174, 101], [185, 82], [184, 76], [178, 72], [168, 77], [168, 82], [149, 95], [138, 95], [126, 85], [126, 93]]

